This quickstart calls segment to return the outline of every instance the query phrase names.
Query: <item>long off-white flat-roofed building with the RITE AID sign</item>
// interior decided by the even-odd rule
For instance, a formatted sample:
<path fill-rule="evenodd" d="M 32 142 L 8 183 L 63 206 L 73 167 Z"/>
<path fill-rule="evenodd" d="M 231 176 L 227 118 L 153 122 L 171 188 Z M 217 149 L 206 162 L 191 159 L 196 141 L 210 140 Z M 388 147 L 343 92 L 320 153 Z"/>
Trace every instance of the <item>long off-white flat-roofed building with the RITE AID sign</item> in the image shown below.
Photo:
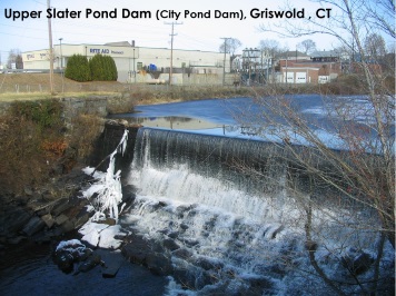
<path fill-rule="evenodd" d="M 53 67 L 66 68 L 72 55 L 82 55 L 90 59 L 101 53 L 115 59 L 120 82 L 168 82 L 171 61 L 172 85 L 221 85 L 224 73 L 230 72 L 229 53 L 174 49 L 171 59 L 170 49 L 135 47 L 133 43 L 133 41 L 132 45 L 127 41 L 106 45 L 59 43 L 53 46 Z M 48 70 L 49 56 L 48 49 L 23 52 L 23 69 Z"/>

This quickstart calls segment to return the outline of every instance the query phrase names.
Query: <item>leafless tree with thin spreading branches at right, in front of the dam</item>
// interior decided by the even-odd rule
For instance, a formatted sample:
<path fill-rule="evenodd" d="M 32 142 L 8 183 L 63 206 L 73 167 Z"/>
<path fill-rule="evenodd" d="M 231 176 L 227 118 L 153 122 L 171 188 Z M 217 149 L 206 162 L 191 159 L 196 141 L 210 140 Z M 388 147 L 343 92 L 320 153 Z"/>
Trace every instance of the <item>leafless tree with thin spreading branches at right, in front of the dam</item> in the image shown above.
<path fill-rule="evenodd" d="M 385 83 L 379 63 L 373 63 L 364 40 L 373 33 L 395 37 L 389 18 L 395 6 L 388 0 L 376 1 L 380 9 L 363 0 L 313 2 L 330 7 L 334 17 L 327 21 L 306 19 L 303 26 L 283 20 L 278 26 L 266 24 L 261 29 L 290 37 L 315 33 L 336 37 L 344 48 L 358 56 L 353 66 L 366 96 L 359 101 L 324 96 L 321 112 L 328 118 L 324 124 L 305 116 L 298 105 L 274 86 L 267 88 L 269 97 L 257 96 L 258 110 L 247 111 L 238 119 L 285 150 L 284 157 L 294 168 L 291 175 L 305 176 L 304 186 L 297 182 L 289 187 L 304 209 L 306 249 L 316 274 L 338 295 L 350 293 L 352 286 L 354 293 L 376 293 L 383 283 L 380 266 L 385 248 L 390 245 L 395 249 L 395 89 Z M 395 69 L 388 75 L 394 78 Z M 336 149 L 324 134 L 337 142 Z M 326 203 L 333 200 L 333 206 L 320 201 L 319 196 Z M 359 217 L 359 213 L 365 213 L 365 217 Z M 343 234 L 350 229 L 348 238 L 354 237 L 355 241 L 339 236 L 335 229 Z M 367 245 L 362 243 L 368 233 L 376 241 L 376 255 L 370 259 L 365 253 Z M 344 279 L 323 268 L 317 255 L 320 246 L 339 258 L 347 273 Z M 363 265 L 370 273 L 363 272 L 355 259 L 345 256 L 346 246 L 360 250 L 359 258 L 367 258 Z"/>

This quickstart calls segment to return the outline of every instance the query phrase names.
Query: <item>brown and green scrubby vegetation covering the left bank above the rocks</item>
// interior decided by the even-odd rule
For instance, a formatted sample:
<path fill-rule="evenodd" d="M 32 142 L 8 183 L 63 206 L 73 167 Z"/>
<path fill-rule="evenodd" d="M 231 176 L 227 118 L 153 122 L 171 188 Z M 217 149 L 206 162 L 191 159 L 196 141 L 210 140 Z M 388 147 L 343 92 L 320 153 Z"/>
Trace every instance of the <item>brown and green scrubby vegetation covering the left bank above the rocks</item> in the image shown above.
<path fill-rule="evenodd" d="M 90 154 L 102 120 L 81 115 L 68 129 L 57 99 L 16 101 L 0 117 L 0 193 L 20 195 L 70 171 Z"/>

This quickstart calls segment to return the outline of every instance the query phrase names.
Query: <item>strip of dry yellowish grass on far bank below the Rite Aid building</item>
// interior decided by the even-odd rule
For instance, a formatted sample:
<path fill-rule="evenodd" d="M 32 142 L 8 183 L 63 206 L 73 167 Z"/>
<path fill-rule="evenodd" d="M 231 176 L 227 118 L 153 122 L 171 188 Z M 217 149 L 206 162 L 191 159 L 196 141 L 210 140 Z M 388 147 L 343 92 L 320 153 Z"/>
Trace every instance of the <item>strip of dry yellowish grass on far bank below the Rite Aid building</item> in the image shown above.
<path fill-rule="evenodd" d="M 55 96 L 50 95 L 49 73 L 0 75 L 0 101 L 37 100 L 61 97 L 120 96 L 130 106 L 160 103 L 202 98 L 224 98 L 251 95 L 250 88 L 221 86 L 128 85 L 118 81 L 77 82 L 53 76 Z M 118 108 L 116 108 L 118 109 Z"/>

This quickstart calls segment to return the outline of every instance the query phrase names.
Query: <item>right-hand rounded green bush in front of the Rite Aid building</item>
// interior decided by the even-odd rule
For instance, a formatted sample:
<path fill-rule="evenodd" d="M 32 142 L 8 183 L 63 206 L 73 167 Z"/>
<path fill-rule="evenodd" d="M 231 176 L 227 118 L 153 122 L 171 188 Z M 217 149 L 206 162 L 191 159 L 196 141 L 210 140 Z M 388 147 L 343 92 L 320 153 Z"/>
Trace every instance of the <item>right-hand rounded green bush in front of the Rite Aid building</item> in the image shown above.
<path fill-rule="evenodd" d="M 118 78 L 115 60 L 109 56 L 96 55 L 89 60 L 92 80 L 116 81 Z"/>

